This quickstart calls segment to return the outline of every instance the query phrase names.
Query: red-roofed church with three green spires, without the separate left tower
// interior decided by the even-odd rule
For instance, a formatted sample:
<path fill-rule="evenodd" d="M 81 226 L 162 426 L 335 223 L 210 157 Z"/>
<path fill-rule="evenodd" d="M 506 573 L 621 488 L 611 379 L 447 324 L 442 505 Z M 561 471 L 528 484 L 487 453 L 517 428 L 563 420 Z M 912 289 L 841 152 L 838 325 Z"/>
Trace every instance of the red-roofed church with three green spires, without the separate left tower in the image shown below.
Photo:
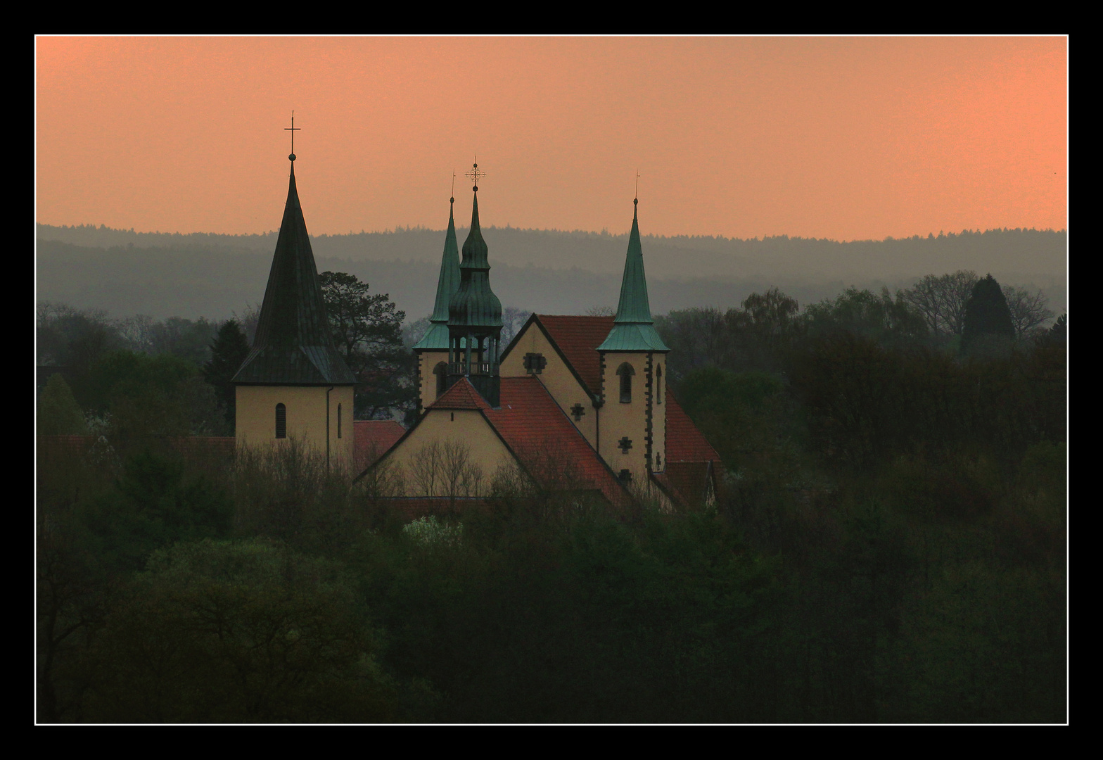
<path fill-rule="evenodd" d="M 502 347 L 502 304 L 479 224 L 482 175 L 478 164 L 467 174 L 462 260 L 449 212 L 430 327 L 414 346 L 417 422 L 365 472 L 398 469 L 407 499 L 454 497 L 454 477 L 418 472 L 452 451 L 483 482 L 503 468 L 539 479 L 550 467 L 614 506 L 641 493 L 667 506 L 711 502 L 719 456 L 666 387 L 670 349 L 651 317 L 635 210 L 615 317 L 533 314 Z"/>

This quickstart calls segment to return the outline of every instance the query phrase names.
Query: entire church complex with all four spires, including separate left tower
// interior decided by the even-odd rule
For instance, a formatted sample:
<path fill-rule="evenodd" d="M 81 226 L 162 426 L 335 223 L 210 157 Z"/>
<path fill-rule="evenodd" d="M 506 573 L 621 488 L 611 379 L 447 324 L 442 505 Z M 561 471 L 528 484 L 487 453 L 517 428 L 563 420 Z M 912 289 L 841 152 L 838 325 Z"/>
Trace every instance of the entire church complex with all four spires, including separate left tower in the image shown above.
<path fill-rule="evenodd" d="M 652 320 L 635 208 L 615 315 L 533 314 L 503 346 L 475 164 L 471 228 L 461 259 L 450 211 L 430 327 L 414 345 L 418 417 L 401 431 L 352 421 L 356 378 L 328 329 L 295 158 L 256 338 L 233 381 L 238 445 L 297 438 L 328 462 L 355 464 L 357 479 L 397 475 L 396 499 L 479 499 L 503 473 L 554 475 L 613 506 L 643 495 L 666 509 L 715 499 L 719 456 L 666 385 L 671 350 Z M 357 461 L 357 433 L 375 427 L 388 431 L 375 437 L 383 446 Z"/>

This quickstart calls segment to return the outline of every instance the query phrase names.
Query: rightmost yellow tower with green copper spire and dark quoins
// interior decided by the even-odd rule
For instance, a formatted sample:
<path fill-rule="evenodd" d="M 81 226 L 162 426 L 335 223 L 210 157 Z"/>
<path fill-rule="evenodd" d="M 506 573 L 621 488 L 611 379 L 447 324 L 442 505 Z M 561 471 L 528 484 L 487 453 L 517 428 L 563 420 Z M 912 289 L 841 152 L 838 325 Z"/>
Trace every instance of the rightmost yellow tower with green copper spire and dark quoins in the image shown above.
<path fill-rule="evenodd" d="M 666 459 L 666 354 L 655 331 L 643 272 L 640 223 L 632 201 L 632 232 L 613 329 L 601 356 L 601 458 L 622 480 L 646 483 Z"/>

